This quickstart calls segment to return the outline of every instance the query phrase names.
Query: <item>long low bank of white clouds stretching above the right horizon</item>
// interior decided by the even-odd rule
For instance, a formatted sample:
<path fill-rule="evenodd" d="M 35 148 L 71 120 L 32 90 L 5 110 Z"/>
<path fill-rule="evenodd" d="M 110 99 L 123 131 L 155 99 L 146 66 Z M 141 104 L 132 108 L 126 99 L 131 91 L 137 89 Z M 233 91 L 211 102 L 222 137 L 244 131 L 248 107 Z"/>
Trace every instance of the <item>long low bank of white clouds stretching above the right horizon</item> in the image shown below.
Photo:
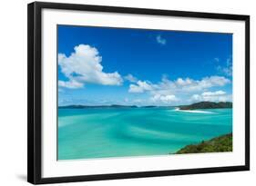
<path fill-rule="evenodd" d="M 176 95 L 188 96 L 193 94 L 190 98 L 191 101 L 225 101 L 230 100 L 230 96 L 225 95 L 223 91 L 207 92 L 211 87 L 225 86 L 230 83 L 230 80 L 223 76 L 210 76 L 204 77 L 200 80 L 193 80 L 190 78 L 178 78 L 177 80 L 169 80 L 164 76 L 159 83 L 151 83 L 149 81 L 138 81 L 129 85 L 129 93 L 149 93 L 150 101 L 154 103 L 171 103 L 178 102 L 179 97 Z"/>

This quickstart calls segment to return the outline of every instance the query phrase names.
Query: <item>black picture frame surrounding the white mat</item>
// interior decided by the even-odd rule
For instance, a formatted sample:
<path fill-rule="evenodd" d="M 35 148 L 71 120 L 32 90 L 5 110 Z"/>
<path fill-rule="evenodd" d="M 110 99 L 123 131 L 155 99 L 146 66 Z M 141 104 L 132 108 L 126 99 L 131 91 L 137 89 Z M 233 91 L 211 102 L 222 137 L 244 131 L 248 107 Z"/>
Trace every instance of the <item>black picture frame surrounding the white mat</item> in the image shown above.
<path fill-rule="evenodd" d="M 210 167 L 170 171 L 139 171 L 97 175 L 42 178 L 42 73 L 41 73 L 41 23 L 42 10 L 62 9 L 93 12 L 125 13 L 137 15 L 165 15 L 209 19 L 239 20 L 245 22 L 245 164 L 240 166 Z M 75 5 L 35 2 L 27 6 L 27 181 L 34 184 L 69 181 L 99 181 L 180 174 L 210 173 L 250 170 L 250 16 L 199 12 L 142 9 L 100 5 Z"/>

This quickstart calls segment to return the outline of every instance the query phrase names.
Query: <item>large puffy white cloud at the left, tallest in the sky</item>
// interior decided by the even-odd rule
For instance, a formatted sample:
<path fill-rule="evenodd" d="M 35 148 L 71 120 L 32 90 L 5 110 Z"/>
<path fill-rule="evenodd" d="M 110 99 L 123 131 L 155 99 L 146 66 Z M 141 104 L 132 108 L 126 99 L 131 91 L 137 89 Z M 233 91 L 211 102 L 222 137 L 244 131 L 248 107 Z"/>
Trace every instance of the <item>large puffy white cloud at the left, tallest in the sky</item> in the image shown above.
<path fill-rule="evenodd" d="M 80 88 L 84 83 L 103 85 L 121 85 L 123 79 L 118 72 L 105 73 L 101 64 L 102 57 L 97 48 L 87 44 L 75 46 L 75 52 L 66 56 L 58 54 L 58 64 L 68 81 L 59 81 L 58 85 L 66 88 Z"/>

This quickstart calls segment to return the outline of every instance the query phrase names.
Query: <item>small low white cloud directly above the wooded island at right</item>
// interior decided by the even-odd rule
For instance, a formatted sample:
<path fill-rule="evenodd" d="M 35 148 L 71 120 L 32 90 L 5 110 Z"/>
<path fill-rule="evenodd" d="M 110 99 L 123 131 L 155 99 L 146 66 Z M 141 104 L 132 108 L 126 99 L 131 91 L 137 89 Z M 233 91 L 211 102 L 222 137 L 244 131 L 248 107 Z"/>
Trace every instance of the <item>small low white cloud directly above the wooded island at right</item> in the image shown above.
<path fill-rule="evenodd" d="M 224 91 L 216 91 L 216 92 L 204 92 L 201 94 L 193 94 L 190 98 L 191 102 L 201 102 L 201 101 L 209 101 L 209 102 L 230 102 L 232 100 L 232 96 L 230 94 L 225 93 Z"/>

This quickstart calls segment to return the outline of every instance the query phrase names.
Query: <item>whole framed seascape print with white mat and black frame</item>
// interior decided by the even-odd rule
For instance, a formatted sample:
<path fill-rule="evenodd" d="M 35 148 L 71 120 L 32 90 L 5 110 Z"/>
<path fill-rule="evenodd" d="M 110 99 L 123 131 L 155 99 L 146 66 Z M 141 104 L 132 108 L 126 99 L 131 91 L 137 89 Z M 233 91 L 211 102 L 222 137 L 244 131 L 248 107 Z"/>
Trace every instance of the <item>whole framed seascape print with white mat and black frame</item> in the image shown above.
<path fill-rule="evenodd" d="M 28 5 L 28 177 L 250 169 L 250 16 Z"/>

